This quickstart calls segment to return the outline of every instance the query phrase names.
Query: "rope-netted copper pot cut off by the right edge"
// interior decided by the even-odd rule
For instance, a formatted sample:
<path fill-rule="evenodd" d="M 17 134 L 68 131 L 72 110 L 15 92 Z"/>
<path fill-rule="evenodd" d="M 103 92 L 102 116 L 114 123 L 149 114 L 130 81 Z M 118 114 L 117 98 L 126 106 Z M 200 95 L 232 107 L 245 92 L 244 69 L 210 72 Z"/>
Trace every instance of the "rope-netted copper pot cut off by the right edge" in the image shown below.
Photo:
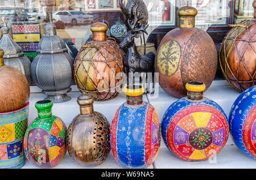
<path fill-rule="evenodd" d="M 235 25 L 222 41 L 220 65 L 225 79 L 237 91 L 256 84 L 256 1 L 254 18 Z"/>

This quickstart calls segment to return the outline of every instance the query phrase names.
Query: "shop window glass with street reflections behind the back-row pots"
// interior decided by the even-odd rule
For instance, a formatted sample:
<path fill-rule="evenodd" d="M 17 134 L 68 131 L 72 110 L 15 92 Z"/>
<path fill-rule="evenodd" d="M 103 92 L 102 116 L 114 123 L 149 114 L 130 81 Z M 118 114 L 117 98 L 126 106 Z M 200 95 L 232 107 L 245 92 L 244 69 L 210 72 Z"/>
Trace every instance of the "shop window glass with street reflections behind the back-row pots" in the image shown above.
<path fill-rule="evenodd" d="M 0 1 L 0 15 L 7 19 L 10 26 L 12 23 L 38 23 L 42 30 L 41 37 L 44 36 L 44 25 L 52 21 L 56 23 L 57 35 L 64 41 L 73 41 L 80 50 L 91 35 L 89 29 L 93 22 L 104 21 L 109 29 L 116 23 L 124 23 L 119 1 L 121 0 L 5 0 Z M 123 6 L 126 6 L 127 1 L 122 0 Z M 252 2 L 253 0 L 144 0 L 149 25 L 146 39 L 155 29 L 177 27 L 177 9 L 182 6 L 197 8 L 196 27 L 207 31 L 210 27 L 228 27 L 228 24 L 252 18 Z M 15 9 L 18 16 L 14 15 Z M 222 31 L 221 28 L 219 30 Z M 109 32 L 108 35 L 110 36 Z"/>

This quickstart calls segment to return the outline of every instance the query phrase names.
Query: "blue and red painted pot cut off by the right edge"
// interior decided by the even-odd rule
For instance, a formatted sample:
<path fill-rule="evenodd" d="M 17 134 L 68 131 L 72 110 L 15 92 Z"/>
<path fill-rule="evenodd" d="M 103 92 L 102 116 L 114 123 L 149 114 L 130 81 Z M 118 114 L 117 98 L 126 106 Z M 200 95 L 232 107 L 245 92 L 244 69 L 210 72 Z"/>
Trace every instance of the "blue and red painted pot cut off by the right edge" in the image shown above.
<path fill-rule="evenodd" d="M 256 159 L 256 85 L 237 97 L 230 110 L 229 128 L 237 147 Z"/>

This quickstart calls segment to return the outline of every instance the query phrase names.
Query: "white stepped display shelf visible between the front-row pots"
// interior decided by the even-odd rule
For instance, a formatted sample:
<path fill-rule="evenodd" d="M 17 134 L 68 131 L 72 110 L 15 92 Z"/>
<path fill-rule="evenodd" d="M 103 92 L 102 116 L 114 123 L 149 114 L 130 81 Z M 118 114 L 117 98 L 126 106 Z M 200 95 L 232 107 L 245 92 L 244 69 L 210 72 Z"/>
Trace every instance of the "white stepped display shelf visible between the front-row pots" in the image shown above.
<path fill-rule="evenodd" d="M 166 109 L 178 98 L 168 95 L 166 92 L 160 88 L 159 84 L 156 84 L 154 96 L 143 96 L 144 101 L 149 101 L 159 114 L 159 118 L 162 119 Z M 77 97 L 80 95 L 76 85 L 72 85 L 72 91 L 68 94 L 72 97 L 71 101 L 53 104 L 52 114 L 59 116 L 63 119 L 63 122 L 68 127 L 72 119 L 79 114 L 79 105 L 77 104 Z M 231 87 L 225 80 L 214 80 L 209 89 L 204 93 L 205 97 L 212 99 L 217 102 L 226 115 L 229 115 L 229 111 L 233 102 L 240 95 L 240 92 L 236 91 Z M 37 117 L 37 110 L 35 109 L 35 102 L 43 100 L 46 96 L 43 95 L 40 89 L 36 86 L 31 86 L 31 96 L 30 96 L 30 111 L 28 115 L 28 123 L 30 124 Z M 125 93 L 121 93 L 118 97 L 113 100 L 105 102 L 95 102 L 94 110 L 105 115 L 109 120 L 110 124 L 112 118 L 114 117 L 115 110 L 118 109 L 126 100 Z M 36 166 L 30 164 L 26 160 L 23 168 L 37 168 Z M 64 159 L 55 168 L 88 168 L 76 164 L 67 154 Z M 110 152 L 107 160 L 99 166 L 90 167 L 98 169 L 119 169 L 122 168 L 115 162 L 112 152 Z M 174 168 L 174 169 L 187 169 L 187 168 L 256 168 L 255 160 L 250 157 L 243 155 L 243 153 L 234 145 L 232 137 L 229 135 L 228 141 L 222 151 L 218 153 L 215 157 L 210 158 L 207 161 L 198 162 L 187 162 L 180 160 L 168 151 L 163 140 L 161 140 L 161 145 L 159 149 L 158 156 L 154 164 L 148 167 L 151 168 Z"/>

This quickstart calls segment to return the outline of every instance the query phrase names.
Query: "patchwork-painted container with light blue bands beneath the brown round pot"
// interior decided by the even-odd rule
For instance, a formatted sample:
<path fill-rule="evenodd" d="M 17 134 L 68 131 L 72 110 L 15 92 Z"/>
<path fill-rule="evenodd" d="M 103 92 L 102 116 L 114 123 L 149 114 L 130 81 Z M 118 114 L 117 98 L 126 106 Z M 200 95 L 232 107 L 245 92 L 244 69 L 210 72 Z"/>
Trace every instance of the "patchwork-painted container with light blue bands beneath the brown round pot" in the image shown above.
<path fill-rule="evenodd" d="M 23 138 L 27 129 L 28 105 L 0 113 L 0 168 L 21 168 L 25 162 Z"/>

